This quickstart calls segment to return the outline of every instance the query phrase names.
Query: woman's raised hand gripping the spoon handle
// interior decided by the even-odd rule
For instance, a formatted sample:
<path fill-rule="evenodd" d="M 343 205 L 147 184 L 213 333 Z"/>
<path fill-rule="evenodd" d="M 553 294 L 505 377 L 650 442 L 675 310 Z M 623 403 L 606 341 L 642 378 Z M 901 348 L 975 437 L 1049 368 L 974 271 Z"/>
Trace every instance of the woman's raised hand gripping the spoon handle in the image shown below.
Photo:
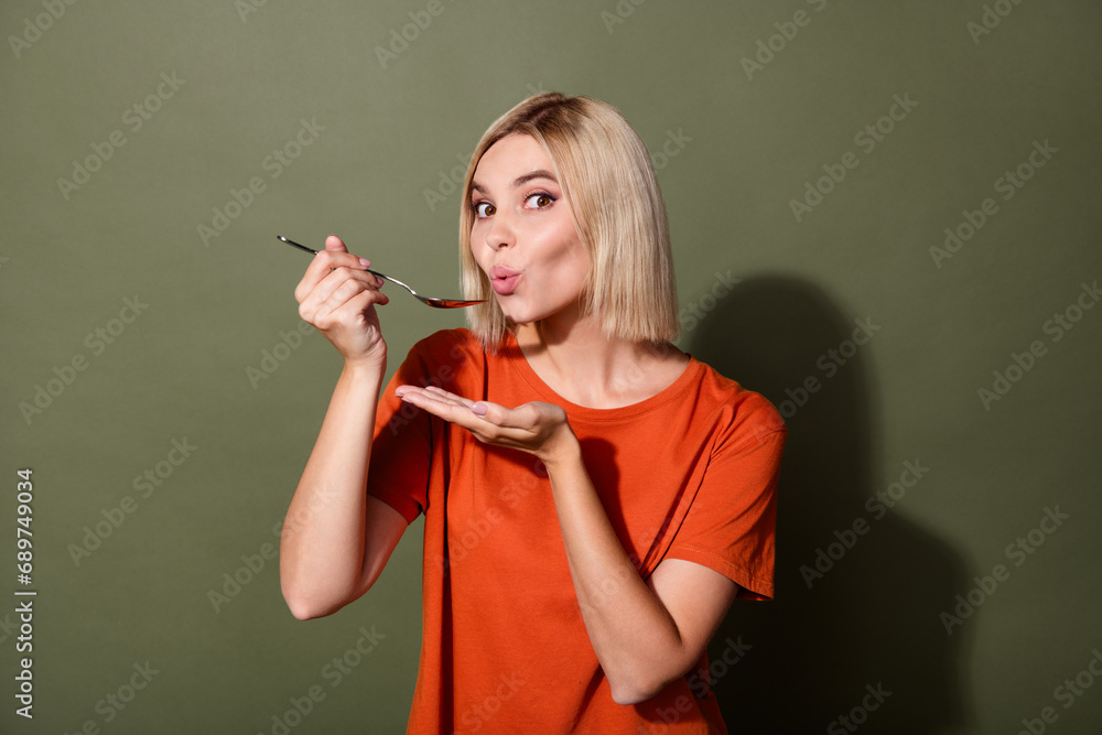
<path fill-rule="evenodd" d="M 387 343 L 375 305 L 390 300 L 379 291 L 382 280 L 367 272 L 370 264 L 329 235 L 325 250 L 314 256 L 299 281 L 294 299 L 299 315 L 333 343 L 345 364 L 378 369 L 386 366 Z"/>

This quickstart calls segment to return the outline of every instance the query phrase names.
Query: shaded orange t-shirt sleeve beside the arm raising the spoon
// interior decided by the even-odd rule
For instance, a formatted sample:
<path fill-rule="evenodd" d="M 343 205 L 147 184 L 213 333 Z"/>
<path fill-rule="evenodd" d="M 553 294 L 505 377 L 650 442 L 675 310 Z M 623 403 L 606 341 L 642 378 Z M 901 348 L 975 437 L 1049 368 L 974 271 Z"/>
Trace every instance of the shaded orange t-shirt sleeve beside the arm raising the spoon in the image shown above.
<path fill-rule="evenodd" d="M 434 359 L 435 338 L 419 342 L 379 397 L 375 417 L 367 493 L 400 512 L 412 523 L 428 507 L 432 465 L 432 417 L 395 396 L 398 386 L 428 385 L 440 372 Z"/>

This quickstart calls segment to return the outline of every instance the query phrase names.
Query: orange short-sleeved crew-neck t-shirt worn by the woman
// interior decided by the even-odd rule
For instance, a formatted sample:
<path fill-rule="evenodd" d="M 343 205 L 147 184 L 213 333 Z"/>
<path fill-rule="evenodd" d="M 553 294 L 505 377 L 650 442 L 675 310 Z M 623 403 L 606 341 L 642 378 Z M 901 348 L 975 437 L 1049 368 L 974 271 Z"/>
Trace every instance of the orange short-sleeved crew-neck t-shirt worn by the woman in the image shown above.
<path fill-rule="evenodd" d="M 616 704 L 582 620 L 547 473 L 403 403 L 437 385 L 515 408 L 561 406 L 628 556 L 646 579 L 663 559 L 703 564 L 773 596 L 777 410 L 691 359 L 633 406 L 555 394 L 515 338 L 495 355 L 466 329 L 419 342 L 380 399 L 368 493 L 412 522 L 424 514 L 420 670 L 409 733 L 724 733 L 711 692 L 679 679 Z M 707 682 L 704 657 L 698 679 Z"/>

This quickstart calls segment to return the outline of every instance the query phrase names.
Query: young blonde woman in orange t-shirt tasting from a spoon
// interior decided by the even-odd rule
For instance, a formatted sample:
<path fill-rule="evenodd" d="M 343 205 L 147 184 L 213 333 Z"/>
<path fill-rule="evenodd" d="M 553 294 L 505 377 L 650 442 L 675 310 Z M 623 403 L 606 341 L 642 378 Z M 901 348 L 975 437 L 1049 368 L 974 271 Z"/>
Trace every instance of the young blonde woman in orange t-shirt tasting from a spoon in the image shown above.
<path fill-rule="evenodd" d="M 331 236 L 295 290 L 344 370 L 288 510 L 295 617 L 367 592 L 424 514 L 411 733 L 724 733 L 705 647 L 773 595 L 784 423 L 670 344 L 666 212 L 606 104 L 542 94 L 464 184 L 469 329 L 383 390 L 381 283 Z"/>

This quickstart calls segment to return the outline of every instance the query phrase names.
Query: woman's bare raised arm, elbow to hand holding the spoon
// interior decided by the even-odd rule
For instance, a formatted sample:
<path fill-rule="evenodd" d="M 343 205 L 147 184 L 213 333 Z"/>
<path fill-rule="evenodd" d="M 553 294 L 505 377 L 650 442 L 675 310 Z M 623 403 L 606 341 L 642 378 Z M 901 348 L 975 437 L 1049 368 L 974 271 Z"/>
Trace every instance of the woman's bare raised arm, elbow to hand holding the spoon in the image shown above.
<path fill-rule="evenodd" d="M 280 537 L 280 584 L 299 619 L 329 615 L 382 572 L 406 519 L 369 498 L 367 468 L 387 367 L 376 304 L 386 304 L 368 261 L 329 236 L 295 289 L 299 314 L 345 358 L 314 451 Z"/>

